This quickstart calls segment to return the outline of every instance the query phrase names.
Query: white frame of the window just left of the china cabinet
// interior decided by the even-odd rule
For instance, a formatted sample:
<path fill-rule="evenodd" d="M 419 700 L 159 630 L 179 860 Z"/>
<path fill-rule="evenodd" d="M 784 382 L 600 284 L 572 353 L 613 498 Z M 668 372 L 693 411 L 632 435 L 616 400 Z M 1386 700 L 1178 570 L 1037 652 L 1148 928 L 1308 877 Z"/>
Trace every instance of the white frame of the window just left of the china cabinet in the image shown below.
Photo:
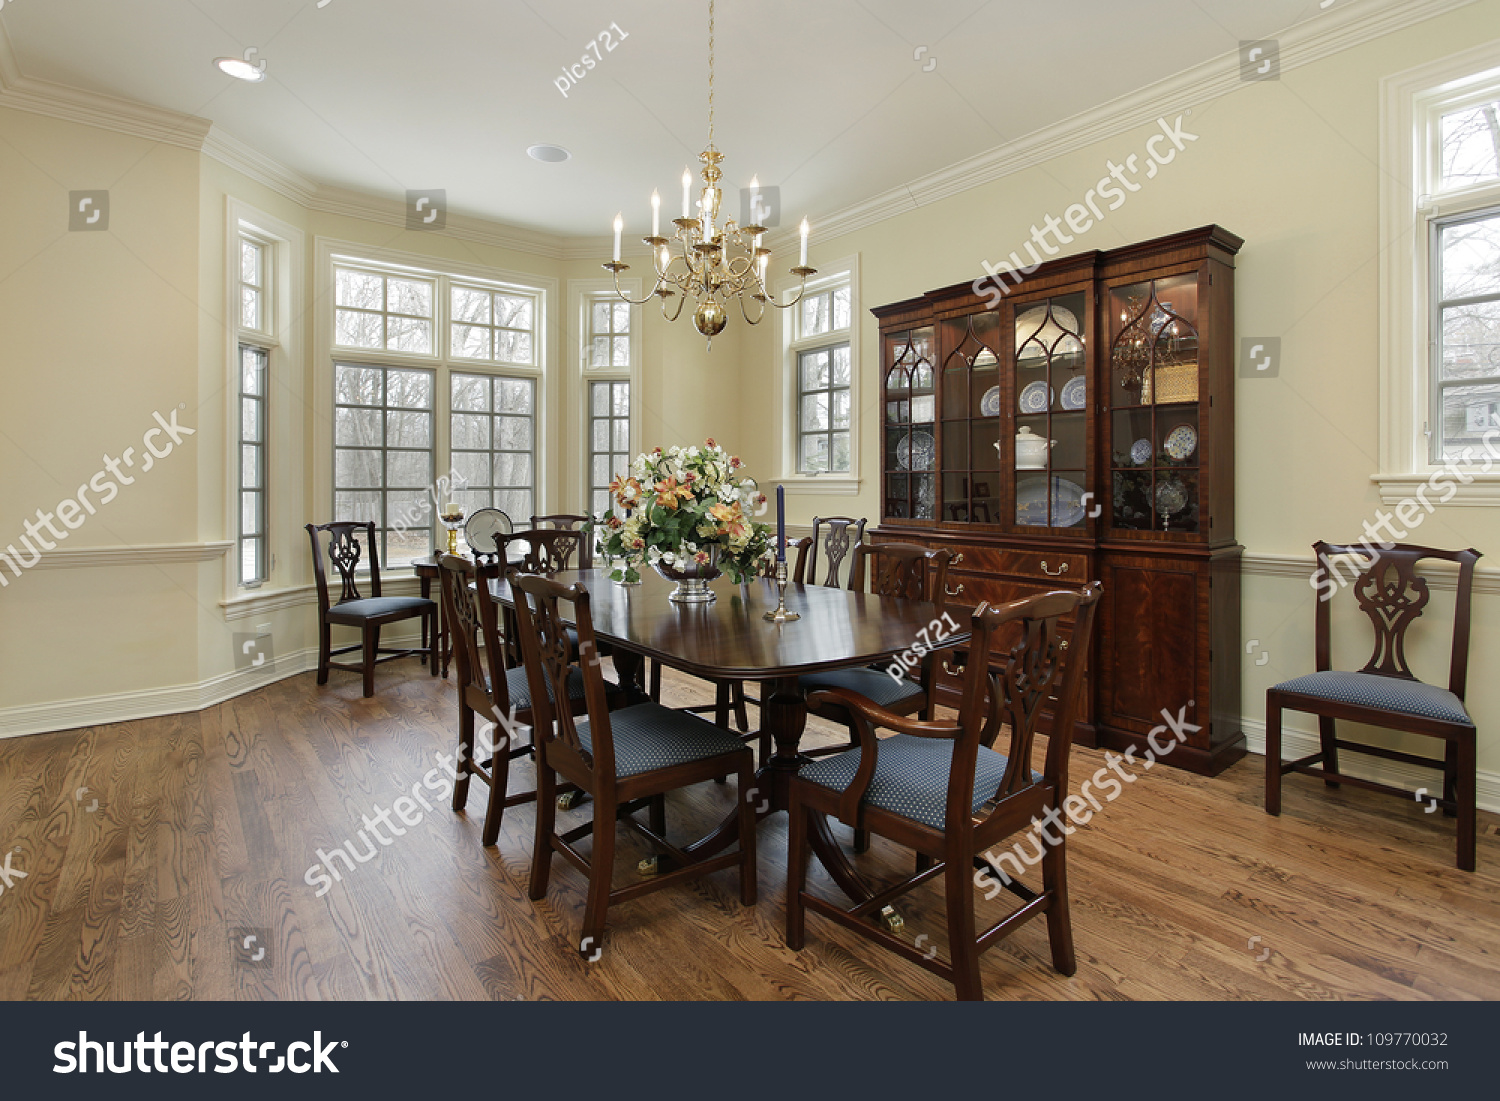
<path fill-rule="evenodd" d="M 842 330 L 819 333 L 806 339 L 798 339 L 798 318 L 801 302 L 790 309 L 777 309 L 777 354 L 780 356 L 782 393 L 778 396 L 782 408 L 782 476 L 777 478 L 788 494 L 816 494 L 822 496 L 858 496 L 860 494 L 860 452 L 861 438 L 861 386 L 862 374 L 860 362 L 860 334 L 864 327 L 864 310 L 860 303 L 860 254 L 843 256 L 828 264 L 807 282 L 807 294 L 818 294 L 838 286 L 849 286 L 849 470 L 838 474 L 800 474 L 798 423 L 798 354 L 810 348 L 820 348 L 830 344 L 842 344 Z M 776 284 L 777 302 L 786 302 L 796 292 L 798 280 L 786 276 Z"/>

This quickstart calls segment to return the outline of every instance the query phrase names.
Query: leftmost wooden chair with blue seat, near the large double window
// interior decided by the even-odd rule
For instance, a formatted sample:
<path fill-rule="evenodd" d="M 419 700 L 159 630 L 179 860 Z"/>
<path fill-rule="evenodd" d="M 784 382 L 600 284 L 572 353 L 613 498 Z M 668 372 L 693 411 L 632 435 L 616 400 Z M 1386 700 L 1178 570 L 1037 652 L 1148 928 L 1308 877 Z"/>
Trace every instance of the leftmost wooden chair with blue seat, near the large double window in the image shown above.
<path fill-rule="evenodd" d="M 374 520 L 334 520 L 333 524 L 309 524 L 308 538 L 312 542 L 312 574 L 318 584 L 318 684 L 328 682 L 330 669 L 346 669 L 364 674 L 364 698 L 375 694 L 375 666 L 400 657 L 420 656 L 438 675 L 438 603 L 428 597 L 387 597 L 380 588 L 380 543 Z M 327 537 L 327 549 L 324 549 Z M 363 542 L 362 542 L 363 537 Z M 339 572 L 342 590 L 334 602 L 328 596 L 328 574 L 322 560 L 333 562 Z M 358 586 L 360 560 L 369 561 L 370 596 L 362 596 Z M 408 650 L 382 650 L 380 633 L 382 627 L 402 620 L 422 620 L 422 645 Z M 360 640 L 348 646 L 333 648 L 334 627 L 356 627 Z M 360 651 L 360 663 L 334 662 L 340 654 Z"/>

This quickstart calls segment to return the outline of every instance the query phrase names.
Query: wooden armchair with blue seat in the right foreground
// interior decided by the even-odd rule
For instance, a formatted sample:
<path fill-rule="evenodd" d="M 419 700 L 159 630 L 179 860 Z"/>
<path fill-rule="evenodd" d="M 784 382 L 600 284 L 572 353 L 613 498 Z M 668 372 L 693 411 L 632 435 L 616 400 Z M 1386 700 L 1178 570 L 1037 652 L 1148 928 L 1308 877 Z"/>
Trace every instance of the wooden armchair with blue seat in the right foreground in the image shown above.
<path fill-rule="evenodd" d="M 1042 592 L 999 608 L 980 604 L 970 620 L 974 634 L 956 723 L 898 716 L 848 688 L 814 693 L 812 702 L 837 702 L 850 716 L 860 747 L 813 760 L 792 778 L 786 885 L 789 948 L 802 948 L 806 910 L 810 909 L 950 980 L 960 999 L 981 1000 L 980 956 L 1030 918 L 1046 914 L 1053 966 L 1064 975 L 1077 970 L 1068 914 L 1066 830 L 1059 830 L 1056 837 L 1046 836 L 1046 846 L 1041 837 L 1036 838 L 1041 891 L 1004 872 L 992 880 L 994 894 L 999 888 L 1008 890 L 1022 906 L 982 933 L 975 932 L 974 894 L 976 868 L 990 867 L 984 854 L 1014 834 L 1032 832 L 1038 820 L 1056 820 L 1068 796 L 1072 718 L 1101 591 L 1100 582 L 1094 582 L 1080 591 Z M 1074 616 L 1071 632 L 1064 626 L 1070 615 Z M 1022 640 L 992 656 L 996 632 L 1010 624 L 1020 624 Z M 992 662 L 998 664 L 998 658 L 1004 658 L 1004 668 L 996 672 Z M 1032 747 L 1048 711 L 1046 760 L 1042 771 L 1035 772 Z M 1010 729 L 1004 756 L 994 750 L 1002 724 Z M 874 728 L 896 734 L 876 738 Z M 808 892 L 808 831 L 820 828 L 828 814 L 915 849 L 916 872 L 852 909 Z M 1020 861 L 1012 862 L 1018 870 Z M 872 921 L 892 900 L 939 876 L 946 897 L 948 960 Z"/>

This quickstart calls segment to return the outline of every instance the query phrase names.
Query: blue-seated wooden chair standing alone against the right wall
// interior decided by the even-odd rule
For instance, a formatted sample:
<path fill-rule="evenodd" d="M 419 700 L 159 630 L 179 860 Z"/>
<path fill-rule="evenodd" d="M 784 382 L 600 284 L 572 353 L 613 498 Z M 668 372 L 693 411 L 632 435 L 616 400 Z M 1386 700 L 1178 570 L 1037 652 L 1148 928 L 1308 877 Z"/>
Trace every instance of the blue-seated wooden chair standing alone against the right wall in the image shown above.
<path fill-rule="evenodd" d="M 1338 752 L 1364 753 L 1384 760 L 1437 768 L 1443 772 L 1443 796 L 1430 798 L 1444 816 L 1458 818 L 1458 867 L 1474 870 L 1474 832 L 1478 802 L 1478 734 L 1464 706 L 1468 681 L 1468 626 L 1474 588 L 1478 550 L 1437 550 L 1430 546 L 1396 543 L 1389 549 L 1365 544 L 1336 546 L 1317 542 L 1320 598 L 1314 610 L 1314 664 L 1317 672 L 1282 681 L 1266 692 L 1266 813 L 1281 813 L 1281 777 L 1287 772 L 1318 776 L 1329 788 L 1342 783 L 1354 788 L 1413 800 L 1414 795 L 1340 771 Z M 1374 626 L 1376 648 L 1359 672 L 1334 669 L 1330 603 L 1344 582 L 1335 558 L 1364 561 L 1352 567 L 1354 600 Z M 1454 604 L 1454 640 L 1449 650 L 1448 687 L 1418 680 L 1406 657 L 1406 634 L 1426 609 L 1428 582 L 1416 567 L 1424 560 L 1458 566 L 1458 596 Z M 1281 760 L 1281 711 L 1305 711 L 1318 717 L 1318 752 L 1298 760 Z M 1346 718 L 1443 741 L 1442 758 L 1389 750 L 1382 746 L 1347 741 L 1338 736 L 1336 722 Z"/>

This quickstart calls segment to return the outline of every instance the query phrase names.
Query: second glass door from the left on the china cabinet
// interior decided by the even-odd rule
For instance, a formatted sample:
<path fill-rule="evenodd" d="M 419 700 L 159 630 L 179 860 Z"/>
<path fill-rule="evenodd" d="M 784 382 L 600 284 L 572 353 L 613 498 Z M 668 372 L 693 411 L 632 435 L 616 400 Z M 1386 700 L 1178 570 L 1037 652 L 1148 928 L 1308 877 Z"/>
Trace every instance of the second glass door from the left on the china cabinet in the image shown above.
<path fill-rule="evenodd" d="M 942 519 L 1000 522 L 1000 316 L 942 322 Z"/>

